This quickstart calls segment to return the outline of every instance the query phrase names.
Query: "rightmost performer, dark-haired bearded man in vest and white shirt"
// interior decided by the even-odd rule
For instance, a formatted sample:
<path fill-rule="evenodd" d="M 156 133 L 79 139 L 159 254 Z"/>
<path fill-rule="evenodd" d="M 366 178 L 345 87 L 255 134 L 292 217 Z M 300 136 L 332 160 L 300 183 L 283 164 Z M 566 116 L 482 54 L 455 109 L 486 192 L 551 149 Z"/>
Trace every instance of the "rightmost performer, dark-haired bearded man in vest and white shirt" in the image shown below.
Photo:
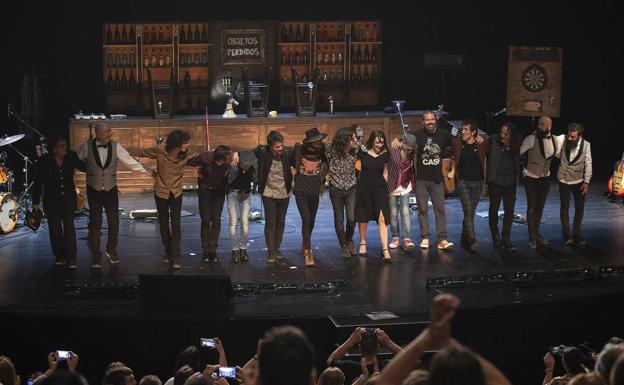
<path fill-rule="evenodd" d="M 561 230 L 566 245 L 584 245 L 581 237 L 581 222 L 585 208 L 585 196 L 589 190 L 592 176 L 591 146 L 583 138 L 584 128 L 579 123 L 568 126 L 567 135 L 560 135 L 557 141 L 561 150 L 557 157 L 561 158 L 557 180 L 559 180 L 559 199 L 561 200 Z M 570 194 L 574 196 L 574 224 L 570 238 Z"/>

